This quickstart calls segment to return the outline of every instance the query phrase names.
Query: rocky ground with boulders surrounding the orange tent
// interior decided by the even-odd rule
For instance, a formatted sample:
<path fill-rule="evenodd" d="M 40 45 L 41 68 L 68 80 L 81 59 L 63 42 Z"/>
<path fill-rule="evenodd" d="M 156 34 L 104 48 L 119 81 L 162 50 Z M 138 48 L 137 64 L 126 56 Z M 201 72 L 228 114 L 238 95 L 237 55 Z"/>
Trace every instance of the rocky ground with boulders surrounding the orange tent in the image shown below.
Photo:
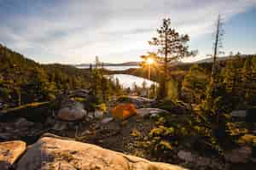
<path fill-rule="evenodd" d="M 76 101 L 78 97 L 86 102 Z M 135 96 L 109 102 L 107 111 L 92 110 L 88 104 L 91 100 L 93 97 L 86 90 L 78 90 L 61 95 L 55 102 L 47 104 L 48 110 L 41 111 L 39 116 L 37 111 L 22 114 L 0 111 L 0 164 L 3 163 L 5 169 L 29 170 L 183 169 L 123 155 L 157 161 L 142 147 L 142 142 L 147 141 L 148 133 L 155 126 L 154 117 L 160 113 L 170 114 L 169 111 L 154 108 L 156 103 L 152 99 Z M 137 114 L 125 120 L 114 118 L 111 109 L 124 102 L 135 105 Z M 186 109 L 175 107 L 173 111 L 180 114 Z M 40 154 L 39 150 L 43 152 Z M 239 166 L 247 166 L 248 160 L 253 161 L 251 155 L 252 149 L 241 147 L 227 152 L 223 161 L 218 157 L 199 156 L 191 150 L 179 148 L 168 162 L 193 169 L 240 169 Z M 124 167 L 119 167 L 120 162 Z"/>

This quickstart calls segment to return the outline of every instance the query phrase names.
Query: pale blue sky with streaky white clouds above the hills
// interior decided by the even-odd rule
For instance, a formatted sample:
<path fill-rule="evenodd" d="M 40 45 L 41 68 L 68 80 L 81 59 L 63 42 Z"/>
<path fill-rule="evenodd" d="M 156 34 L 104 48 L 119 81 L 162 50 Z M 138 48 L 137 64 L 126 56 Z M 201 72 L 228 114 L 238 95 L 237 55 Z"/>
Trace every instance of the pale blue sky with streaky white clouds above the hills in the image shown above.
<path fill-rule="evenodd" d="M 212 54 L 218 14 L 222 51 L 256 54 L 256 0 L 0 0 L 0 43 L 40 63 L 136 61 L 168 17 L 193 61 Z"/>

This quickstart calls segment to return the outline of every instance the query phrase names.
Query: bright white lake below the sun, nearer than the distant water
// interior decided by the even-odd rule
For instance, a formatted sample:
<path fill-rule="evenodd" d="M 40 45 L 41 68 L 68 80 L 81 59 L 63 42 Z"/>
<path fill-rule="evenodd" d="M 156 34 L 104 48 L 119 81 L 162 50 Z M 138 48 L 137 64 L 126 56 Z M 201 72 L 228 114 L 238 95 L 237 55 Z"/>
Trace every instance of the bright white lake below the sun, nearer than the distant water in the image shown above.
<path fill-rule="evenodd" d="M 143 82 L 146 82 L 146 87 L 149 88 L 155 82 L 145 79 L 143 77 L 136 77 L 127 74 L 113 74 L 111 75 L 113 80 L 116 78 L 119 79 L 119 83 L 123 86 L 123 88 L 133 88 L 134 82 L 136 83 L 137 87 L 143 87 Z"/>

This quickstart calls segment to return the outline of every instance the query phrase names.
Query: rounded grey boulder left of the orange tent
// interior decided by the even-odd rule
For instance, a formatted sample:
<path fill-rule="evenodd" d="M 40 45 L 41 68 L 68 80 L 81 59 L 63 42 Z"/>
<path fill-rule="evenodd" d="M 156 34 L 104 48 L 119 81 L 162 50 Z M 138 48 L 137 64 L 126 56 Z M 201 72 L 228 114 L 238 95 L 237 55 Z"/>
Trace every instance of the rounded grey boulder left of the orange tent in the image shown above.
<path fill-rule="evenodd" d="M 78 121 L 86 115 L 87 112 L 84 111 L 84 106 L 75 101 L 67 106 L 62 106 L 62 109 L 58 111 L 57 114 L 57 116 L 63 121 Z"/>

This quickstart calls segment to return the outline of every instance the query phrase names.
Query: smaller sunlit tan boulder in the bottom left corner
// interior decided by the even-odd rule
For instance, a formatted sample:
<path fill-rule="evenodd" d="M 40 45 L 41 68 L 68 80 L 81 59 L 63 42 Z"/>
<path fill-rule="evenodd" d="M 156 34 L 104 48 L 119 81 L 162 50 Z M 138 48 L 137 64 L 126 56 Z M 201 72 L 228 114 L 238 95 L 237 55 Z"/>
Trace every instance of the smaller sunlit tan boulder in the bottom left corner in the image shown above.
<path fill-rule="evenodd" d="M 0 143 L 0 167 L 9 169 L 26 150 L 26 143 L 20 140 Z"/>

